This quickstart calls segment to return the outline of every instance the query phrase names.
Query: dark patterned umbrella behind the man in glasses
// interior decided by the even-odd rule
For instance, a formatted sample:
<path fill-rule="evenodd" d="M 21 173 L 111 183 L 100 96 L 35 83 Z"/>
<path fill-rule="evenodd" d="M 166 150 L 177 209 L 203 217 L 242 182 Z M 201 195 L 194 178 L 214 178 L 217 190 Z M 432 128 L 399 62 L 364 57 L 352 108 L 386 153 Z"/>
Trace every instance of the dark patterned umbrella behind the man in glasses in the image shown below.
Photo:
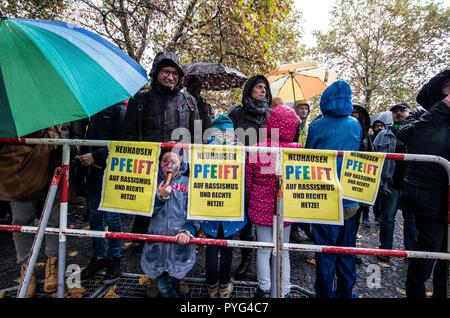
<path fill-rule="evenodd" d="M 185 80 L 197 79 L 202 89 L 222 91 L 241 87 L 247 76 L 219 63 L 196 62 L 184 66 Z"/>

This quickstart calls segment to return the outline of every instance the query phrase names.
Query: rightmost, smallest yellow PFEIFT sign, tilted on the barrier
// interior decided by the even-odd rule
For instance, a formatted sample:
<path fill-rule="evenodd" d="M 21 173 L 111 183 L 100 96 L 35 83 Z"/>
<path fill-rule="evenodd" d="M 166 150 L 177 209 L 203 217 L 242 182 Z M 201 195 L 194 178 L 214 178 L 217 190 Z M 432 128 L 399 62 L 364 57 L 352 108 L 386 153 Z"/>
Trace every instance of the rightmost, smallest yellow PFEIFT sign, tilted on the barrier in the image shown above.
<path fill-rule="evenodd" d="M 341 172 L 343 197 L 375 204 L 383 164 L 383 154 L 345 152 Z"/>

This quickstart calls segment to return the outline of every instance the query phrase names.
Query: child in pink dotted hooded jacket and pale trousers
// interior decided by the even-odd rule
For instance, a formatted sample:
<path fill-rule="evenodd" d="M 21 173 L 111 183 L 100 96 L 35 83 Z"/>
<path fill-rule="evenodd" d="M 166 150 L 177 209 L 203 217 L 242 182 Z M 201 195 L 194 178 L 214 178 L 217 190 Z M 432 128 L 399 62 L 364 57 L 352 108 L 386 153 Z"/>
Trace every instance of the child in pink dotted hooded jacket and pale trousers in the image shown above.
<path fill-rule="evenodd" d="M 267 139 L 256 144 L 259 147 L 301 148 L 298 140 L 298 128 L 301 123 L 295 111 L 279 105 L 272 109 L 267 118 L 265 128 Z M 260 242 L 272 242 L 273 216 L 276 214 L 276 154 L 250 153 L 246 164 L 246 195 L 248 200 L 248 216 L 256 225 L 256 237 Z M 284 242 L 289 242 L 290 225 L 284 224 Z M 258 290 L 256 297 L 269 297 L 271 289 L 270 249 L 258 249 L 256 253 L 256 274 Z M 284 294 L 289 297 L 290 264 L 289 252 L 284 251 Z"/>

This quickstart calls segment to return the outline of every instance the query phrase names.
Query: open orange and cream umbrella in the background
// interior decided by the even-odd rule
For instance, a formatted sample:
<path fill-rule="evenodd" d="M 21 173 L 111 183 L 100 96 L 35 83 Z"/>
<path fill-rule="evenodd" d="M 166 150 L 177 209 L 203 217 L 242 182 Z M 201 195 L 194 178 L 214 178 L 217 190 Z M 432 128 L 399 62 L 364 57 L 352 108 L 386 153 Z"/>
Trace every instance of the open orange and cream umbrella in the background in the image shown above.
<path fill-rule="evenodd" d="M 336 73 L 315 63 L 282 64 L 266 75 L 272 96 L 286 104 L 321 94 L 337 79 Z"/>

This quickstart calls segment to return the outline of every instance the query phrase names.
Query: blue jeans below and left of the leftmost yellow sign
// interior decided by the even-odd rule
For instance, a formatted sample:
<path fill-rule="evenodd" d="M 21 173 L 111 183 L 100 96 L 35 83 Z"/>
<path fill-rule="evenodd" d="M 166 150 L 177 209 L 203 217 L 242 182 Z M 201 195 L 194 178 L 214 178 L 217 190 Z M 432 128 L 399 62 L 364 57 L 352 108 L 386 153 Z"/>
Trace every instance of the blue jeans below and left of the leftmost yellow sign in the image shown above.
<path fill-rule="evenodd" d="M 110 232 L 121 232 L 122 222 L 119 213 L 99 211 L 101 191 L 89 190 L 86 192 L 89 225 L 93 231 L 104 231 L 105 225 Z M 105 248 L 105 239 L 93 238 L 92 249 L 95 257 L 120 257 L 121 240 L 108 240 L 108 250 Z"/>

